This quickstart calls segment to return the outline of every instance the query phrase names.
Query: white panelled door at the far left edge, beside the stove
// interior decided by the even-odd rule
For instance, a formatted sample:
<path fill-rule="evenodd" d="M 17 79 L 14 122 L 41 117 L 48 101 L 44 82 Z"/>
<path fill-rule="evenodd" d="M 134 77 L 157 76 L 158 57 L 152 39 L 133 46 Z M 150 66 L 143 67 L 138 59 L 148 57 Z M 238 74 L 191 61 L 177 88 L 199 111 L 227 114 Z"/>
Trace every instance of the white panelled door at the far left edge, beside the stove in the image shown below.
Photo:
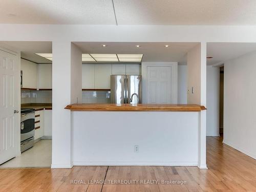
<path fill-rule="evenodd" d="M 16 156 L 20 123 L 17 55 L 0 50 L 0 164 Z"/>

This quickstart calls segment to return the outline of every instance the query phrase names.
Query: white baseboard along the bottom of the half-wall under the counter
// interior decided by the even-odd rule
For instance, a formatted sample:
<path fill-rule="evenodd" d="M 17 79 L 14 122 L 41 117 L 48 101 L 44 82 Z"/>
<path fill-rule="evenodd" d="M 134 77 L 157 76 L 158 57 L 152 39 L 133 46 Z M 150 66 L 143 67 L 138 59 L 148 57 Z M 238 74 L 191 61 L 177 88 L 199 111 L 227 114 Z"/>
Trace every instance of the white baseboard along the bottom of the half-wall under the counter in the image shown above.
<path fill-rule="evenodd" d="M 198 162 L 74 161 L 74 166 L 197 166 Z"/>

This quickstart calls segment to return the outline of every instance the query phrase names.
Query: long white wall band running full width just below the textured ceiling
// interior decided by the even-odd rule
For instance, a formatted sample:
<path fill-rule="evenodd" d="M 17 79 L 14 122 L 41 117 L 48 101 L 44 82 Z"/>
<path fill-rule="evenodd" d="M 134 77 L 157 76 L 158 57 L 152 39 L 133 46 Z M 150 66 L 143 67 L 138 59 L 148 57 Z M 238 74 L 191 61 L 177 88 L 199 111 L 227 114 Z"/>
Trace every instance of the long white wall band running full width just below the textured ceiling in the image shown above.
<path fill-rule="evenodd" d="M 0 24 L 1 41 L 256 42 L 254 34 L 256 26 Z"/>

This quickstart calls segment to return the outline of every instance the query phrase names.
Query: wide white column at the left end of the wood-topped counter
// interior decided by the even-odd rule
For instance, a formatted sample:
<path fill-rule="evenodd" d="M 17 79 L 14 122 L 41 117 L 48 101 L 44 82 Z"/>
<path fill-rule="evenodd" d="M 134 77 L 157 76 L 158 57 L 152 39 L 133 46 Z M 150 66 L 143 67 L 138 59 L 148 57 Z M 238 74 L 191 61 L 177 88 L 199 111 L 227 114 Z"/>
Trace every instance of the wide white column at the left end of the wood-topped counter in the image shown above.
<path fill-rule="evenodd" d="M 70 41 L 53 41 L 52 168 L 71 168 L 72 127 L 68 104 L 81 101 L 81 51 Z M 79 56 L 80 55 L 80 56 Z M 80 58 L 80 60 L 79 60 Z M 78 62 L 80 65 L 78 65 Z M 80 67 L 80 68 L 79 68 Z"/>

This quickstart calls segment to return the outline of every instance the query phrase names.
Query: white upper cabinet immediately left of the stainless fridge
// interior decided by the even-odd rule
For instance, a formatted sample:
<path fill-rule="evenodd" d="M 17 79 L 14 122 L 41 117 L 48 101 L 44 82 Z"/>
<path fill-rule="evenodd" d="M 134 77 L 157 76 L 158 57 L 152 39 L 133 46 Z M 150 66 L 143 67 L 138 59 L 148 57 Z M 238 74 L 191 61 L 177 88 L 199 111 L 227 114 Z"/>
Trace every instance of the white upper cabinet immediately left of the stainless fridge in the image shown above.
<path fill-rule="evenodd" d="M 95 66 L 95 89 L 110 89 L 110 76 L 112 75 L 111 64 L 96 64 Z"/>

